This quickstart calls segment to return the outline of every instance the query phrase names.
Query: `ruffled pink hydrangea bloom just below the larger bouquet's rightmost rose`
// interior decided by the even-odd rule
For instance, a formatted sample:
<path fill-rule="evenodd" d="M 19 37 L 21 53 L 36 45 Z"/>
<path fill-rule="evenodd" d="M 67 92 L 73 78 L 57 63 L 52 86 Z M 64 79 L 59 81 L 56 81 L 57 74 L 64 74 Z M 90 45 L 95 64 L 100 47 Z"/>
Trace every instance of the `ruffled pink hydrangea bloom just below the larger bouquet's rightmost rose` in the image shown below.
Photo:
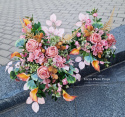
<path fill-rule="evenodd" d="M 65 65 L 64 63 L 66 62 L 65 58 L 62 58 L 59 55 L 56 55 L 55 58 L 53 58 L 54 65 L 56 65 L 59 68 L 63 68 Z"/>

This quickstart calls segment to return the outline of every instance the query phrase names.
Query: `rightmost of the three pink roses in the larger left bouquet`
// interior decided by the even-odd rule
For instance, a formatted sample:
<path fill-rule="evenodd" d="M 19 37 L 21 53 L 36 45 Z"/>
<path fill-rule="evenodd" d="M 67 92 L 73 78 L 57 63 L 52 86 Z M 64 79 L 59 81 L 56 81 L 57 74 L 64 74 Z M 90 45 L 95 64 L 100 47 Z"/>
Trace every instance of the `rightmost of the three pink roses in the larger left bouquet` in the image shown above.
<path fill-rule="evenodd" d="M 46 49 L 46 56 L 55 57 L 56 55 L 58 55 L 58 49 L 56 46 L 51 46 Z"/>

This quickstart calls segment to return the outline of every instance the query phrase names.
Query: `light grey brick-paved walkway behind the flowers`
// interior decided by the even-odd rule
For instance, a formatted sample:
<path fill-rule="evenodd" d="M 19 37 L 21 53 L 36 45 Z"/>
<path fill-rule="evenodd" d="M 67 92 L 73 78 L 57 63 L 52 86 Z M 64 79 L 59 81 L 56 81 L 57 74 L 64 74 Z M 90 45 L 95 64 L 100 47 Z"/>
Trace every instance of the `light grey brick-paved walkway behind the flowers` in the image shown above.
<path fill-rule="evenodd" d="M 14 43 L 21 35 L 19 18 L 34 14 L 35 21 L 45 25 L 52 13 L 63 21 L 66 33 L 75 28 L 80 12 L 99 9 L 99 17 L 106 22 L 115 6 L 112 28 L 125 24 L 125 0 L 0 0 L 0 65 L 5 65 L 10 54 L 17 50 Z"/>

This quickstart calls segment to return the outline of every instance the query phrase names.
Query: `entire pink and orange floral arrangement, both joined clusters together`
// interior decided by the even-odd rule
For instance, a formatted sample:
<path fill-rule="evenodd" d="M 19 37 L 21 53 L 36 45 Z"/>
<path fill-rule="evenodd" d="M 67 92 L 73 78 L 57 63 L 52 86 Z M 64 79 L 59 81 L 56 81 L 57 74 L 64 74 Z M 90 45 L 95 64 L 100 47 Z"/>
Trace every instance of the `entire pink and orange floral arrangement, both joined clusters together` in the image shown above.
<path fill-rule="evenodd" d="M 49 28 L 41 27 L 40 22 L 34 23 L 33 16 L 21 21 L 23 35 L 15 46 L 22 51 L 11 54 L 17 62 L 9 62 L 6 70 L 11 79 L 26 82 L 24 90 L 31 90 L 26 103 L 32 103 L 34 112 L 38 112 L 39 104 L 45 103 L 46 93 L 55 100 L 61 95 L 66 101 L 76 98 L 65 91 L 70 84 L 81 79 L 79 69 L 74 68 L 69 55 L 83 57 L 84 62 L 80 56 L 75 59 L 80 69 L 92 63 L 97 71 L 100 71 L 99 63 L 108 66 L 107 58 L 114 55 L 116 40 L 103 29 L 101 18 L 97 18 L 97 9 L 87 13 L 94 17 L 94 23 L 88 15 L 80 13 L 80 21 L 76 23 L 79 28 L 65 36 L 64 29 L 59 28 L 62 21 L 57 20 L 55 14 L 46 21 Z"/>

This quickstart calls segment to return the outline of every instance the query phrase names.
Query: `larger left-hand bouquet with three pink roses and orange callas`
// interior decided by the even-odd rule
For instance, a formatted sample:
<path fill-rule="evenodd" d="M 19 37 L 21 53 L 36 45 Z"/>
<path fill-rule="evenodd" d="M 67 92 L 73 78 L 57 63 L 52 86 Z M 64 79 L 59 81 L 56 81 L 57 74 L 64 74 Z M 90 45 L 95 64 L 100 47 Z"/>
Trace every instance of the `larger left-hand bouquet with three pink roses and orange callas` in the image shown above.
<path fill-rule="evenodd" d="M 14 52 L 11 58 L 18 62 L 13 65 L 9 62 L 6 70 L 10 78 L 16 81 L 25 81 L 24 90 L 30 89 L 30 97 L 26 103 L 32 103 L 34 112 L 39 110 L 38 104 L 44 104 L 46 93 L 57 98 L 63 95 L 66 101 L 72 101 L 76 96 L 70 96 L 66 93 L 69 85 L 76 82 L 79 76 L 73 67 L 73 61 L 70 59 L 70 42 L 62 40 L 64 29 L 58 29 L 61 21 L 56 21 L 56 15 L 50 16 L 46 21 L 49 28 L 43 26 L 40 22 L 34 23 L 33 17 L 23 19 L 23 35 L 16 41 L 15 46 L 22 52 Z M 13 67 L 14 66 L 14 67 Z"/>

